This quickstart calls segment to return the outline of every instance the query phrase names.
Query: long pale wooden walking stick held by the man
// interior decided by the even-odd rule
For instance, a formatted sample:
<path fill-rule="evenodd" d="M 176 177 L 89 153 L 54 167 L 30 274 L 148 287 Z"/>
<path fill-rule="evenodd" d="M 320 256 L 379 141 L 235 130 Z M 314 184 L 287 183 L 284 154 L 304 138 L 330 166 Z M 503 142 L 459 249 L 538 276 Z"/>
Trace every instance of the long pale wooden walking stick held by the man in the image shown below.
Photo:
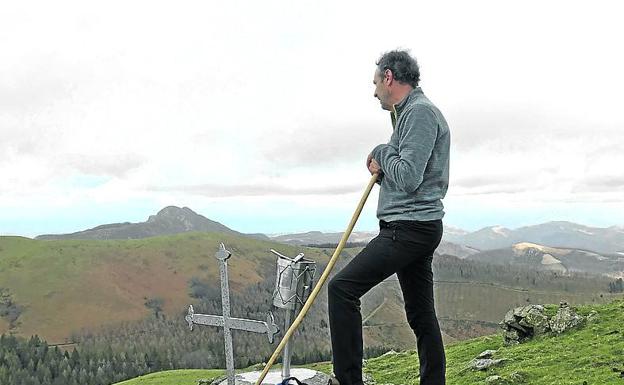
<path fill-rule="evenodd" d="M 334 255 L 332 255 L 332 257 L 329 259 L 329 263 L 327 264 L 327 267 L 325 268 L 325 270 L 323 271 L 323 274 L 319 278 L 319 281 L 316 283 L 316 286 L 314 286 L 314 290 L 312 290 L 312 293 L 310 293 L 308 300 L 301 308 L 299 315 L 297 316 L 297 318 L 295 318 L 292 325 L 290 325 L 290 328 L 288 328 L 288 331 L 286 331 L 286 333 L 284 334 L 284 337 L 282 337 L 282 340 L 280 341 L 279 345 L 277 345 L 275 352 L 273 352 L 273 355 L 269 359 L 269 362 L 267 362 L 267 364 L 264 366 L 264 370 L 262 370 L 262 374 L 260 374 L 260 378 L 258 378 L 255 385 L 260 385 L 262 381 L 264 381 L 264 378 L 269 373 L 269 369 L 271 369 L 271 366 L 273 366 L 273 364 L 275 363 L 277 356 L 282 352 L 282 349 L 284 349 L 284 346 L 286 345 L 290 337 L 293 335 L 293 333 L 295 332 L 295 330 L 297 329 L 297 327 L 303 320 L 303 317 L 305 317 L 306 313 L 308 312 L 308 309 L 310 309 L 310 306 L 312 306 L 312 303 L 316 299 L 316 296 L 318 295 L 318 293 L 321 291 L 323 284 L 325 283 L 325 281 L 327 281 L 327 277 L 329 277 L 329 273 L 331 272 L 332 268 L 336 264 L 336 261 L 338 260 L 338 256 L 340 255 L 340 253 L 342 252 L 342 249 L 347 243 L 347 239 L 349 239 L 349 236 L 351 235 L 351 232 L 353 231 L 355 222 L 357 222 L 360 216 L 360 213 L 362 212 L 362 209 L 364 208 L 364 203 L 366 203 L 366 199 L 368 199 L 368 195 L 370 194 L 371 190 L 373 189 L 373 186 L 375 185 L 375 182 L 377 181 L 377 175 L 378 174 L 373 174 L 373 176 L 370 179 L 370 182 L 368 182 L 368 186 L 366 186 L 366 190 L 364 190 L 364 195 L 362 195 L 362 199 L 360 199 L 360 203 L 358 204 L 358 207 L 355 209 L 355 212 L 353 213 L 353 216 L 351 217 L 351 222 L 349 222 L 349 226 L 347 227 L 347 230 L 342 235 L 342 239 L 340 239 L 340 243 L 338 243 L 338 247 L 336 247 L 336 251 L 334 251 Z"/>

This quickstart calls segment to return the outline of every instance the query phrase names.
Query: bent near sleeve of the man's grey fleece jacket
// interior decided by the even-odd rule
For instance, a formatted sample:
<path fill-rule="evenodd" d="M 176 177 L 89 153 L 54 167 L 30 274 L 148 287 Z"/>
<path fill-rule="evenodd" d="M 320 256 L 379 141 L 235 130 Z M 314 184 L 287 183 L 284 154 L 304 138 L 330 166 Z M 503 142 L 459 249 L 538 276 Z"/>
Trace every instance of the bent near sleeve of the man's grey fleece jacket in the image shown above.
<path fill-rule="evenodd" d="M 423 105 L 416 105 L 406 113 L 402 129 L 398 132 L 398 147 L 391 143 L 380 144 L 372 154 L 386 178 L 391 179 L 399 189 L 414 192 L 422 183 L 433 151 L 438 120 L 435 113 Z"/>

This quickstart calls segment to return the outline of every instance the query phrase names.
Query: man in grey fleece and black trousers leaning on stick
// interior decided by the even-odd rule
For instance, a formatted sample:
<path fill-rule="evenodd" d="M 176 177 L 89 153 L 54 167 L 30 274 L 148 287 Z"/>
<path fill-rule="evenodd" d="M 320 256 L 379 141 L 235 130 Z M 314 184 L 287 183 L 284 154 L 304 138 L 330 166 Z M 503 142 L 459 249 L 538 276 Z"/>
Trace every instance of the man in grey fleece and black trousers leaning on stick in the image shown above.
<path fill-rule="evenodd" d="M 379 235 L 328 287 L 334 373 L 340 385 L 363 384 L 360 297 L 396 273 L 416 335 L 420 384 L 444 385 L 446 360 L 431 262 L 442 238 L 449 128 L 418 86 L 418 64 L 408 52 L 387 52 L 376 64 L 375 97 L 391 112 L 394 129 L 388 144 L 375 147 L 366 161 L 371 174 L 381 179 Z"/>

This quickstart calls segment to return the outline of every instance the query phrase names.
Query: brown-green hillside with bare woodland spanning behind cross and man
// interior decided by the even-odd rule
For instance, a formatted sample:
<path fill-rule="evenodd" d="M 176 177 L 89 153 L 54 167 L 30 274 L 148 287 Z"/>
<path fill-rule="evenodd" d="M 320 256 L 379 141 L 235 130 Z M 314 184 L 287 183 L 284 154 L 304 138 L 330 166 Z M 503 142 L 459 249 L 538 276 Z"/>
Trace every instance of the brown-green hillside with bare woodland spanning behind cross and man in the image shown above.
<path fill-rule="evenodd" d="M 0 333 L 36 333 L 52 344 L 69 337 L 78 342 L 81 354 L 111 365 L 131 361 L 132 371 L 116 381 L 165 369 L 219 367 L 224 361 L 219 332 L 191 332 L 182 314 L 190 303 L 197 305 L 198 313 L 221 311 L 214 258 L 219 242 L 233 252 L 232 314 L 254 319 L 263 319 L 271 305 L 271 248 L 288 255 L 303 250 L 319 269 L 333 252 L 214 233 L 109 241 L 0 237 Z M 357 251 L 345 250 L 336 271 Z M 533 275 L 448 256 L 437 256 L 434 265 L 438 315 L 447 344 L 495 330 L 509 307 L 612 298 L 604 293 L 610 281 L 595 276 Z M 146 303 L 162 306 L 154 312 L 158 316 Z M 294 363 L 329 357 L 326 306 L 322 292 L 296 335 Z M 390 280 L 367 294 L 362 313 L 368 354 L 415 346 L 396 282 Z M 279 312 L 276 316 L 279 319 Z M 71 335 L 83 328 L 90 332 Z M 274 348 L 261 335 L 238 333 L 234 342 L 238 367 L 266 360 Z M 98 369 L 92 366 L 89 373 Z"/>

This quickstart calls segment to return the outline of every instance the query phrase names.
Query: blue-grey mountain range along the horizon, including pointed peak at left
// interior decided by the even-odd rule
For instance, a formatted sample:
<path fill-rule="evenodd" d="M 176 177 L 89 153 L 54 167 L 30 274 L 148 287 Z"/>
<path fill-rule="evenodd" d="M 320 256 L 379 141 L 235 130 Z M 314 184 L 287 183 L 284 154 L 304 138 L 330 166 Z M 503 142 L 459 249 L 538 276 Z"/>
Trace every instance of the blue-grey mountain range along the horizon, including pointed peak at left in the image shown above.
<path fill-rule="evenodd" d="M 337 244 L 341 232 L 306 233 L 267 236 L 265 234 L 241 234 L 229 227 L 197 214 L 188 207 L 168 206 L 146 222 L 113 223 L 71 234 L 46 234 L 37 239 L 140 239 L 184 232 L 218 232 L 246 235 L 256 239 L 273 240 L 290 245 Z M 349 237 L 351 243 L 366 243 L 377 235 L 376 231 L 356 231 Z M 624 227 L 589 227 L 572 222 L 547 222 L 520 227 L 515 230 L 502 226 L 490 226 L 469 232 L 452 226 L 445 226 L 443 242 L 438 253 L 452 254 L 460 258 L 479 251 L 512 247 L 529 242 L 555 248 L 591 250 L 603 254 L 617 254 L 624 257 Z"/>

